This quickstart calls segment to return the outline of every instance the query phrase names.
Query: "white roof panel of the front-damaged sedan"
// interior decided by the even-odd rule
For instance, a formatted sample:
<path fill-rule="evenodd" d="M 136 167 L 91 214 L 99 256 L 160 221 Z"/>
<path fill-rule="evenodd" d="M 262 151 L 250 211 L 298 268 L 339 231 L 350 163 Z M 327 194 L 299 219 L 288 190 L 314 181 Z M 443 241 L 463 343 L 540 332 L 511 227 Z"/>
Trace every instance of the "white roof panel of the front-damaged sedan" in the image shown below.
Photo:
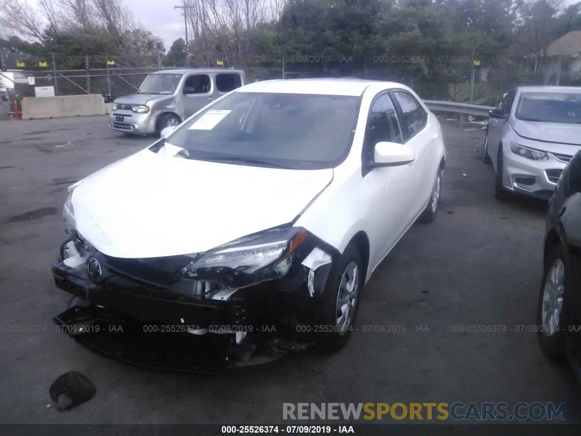
<path fill-rule="evenodd" d="M 250 83 L 236 92 L 288 92 L 289 94 L 351 95 L 359 97 L 370 85 L 381 84 L 384 88 L 401 88 L 403 85 L 380 80 L 361 78 L 293 78 L 265 80 Z"/>

